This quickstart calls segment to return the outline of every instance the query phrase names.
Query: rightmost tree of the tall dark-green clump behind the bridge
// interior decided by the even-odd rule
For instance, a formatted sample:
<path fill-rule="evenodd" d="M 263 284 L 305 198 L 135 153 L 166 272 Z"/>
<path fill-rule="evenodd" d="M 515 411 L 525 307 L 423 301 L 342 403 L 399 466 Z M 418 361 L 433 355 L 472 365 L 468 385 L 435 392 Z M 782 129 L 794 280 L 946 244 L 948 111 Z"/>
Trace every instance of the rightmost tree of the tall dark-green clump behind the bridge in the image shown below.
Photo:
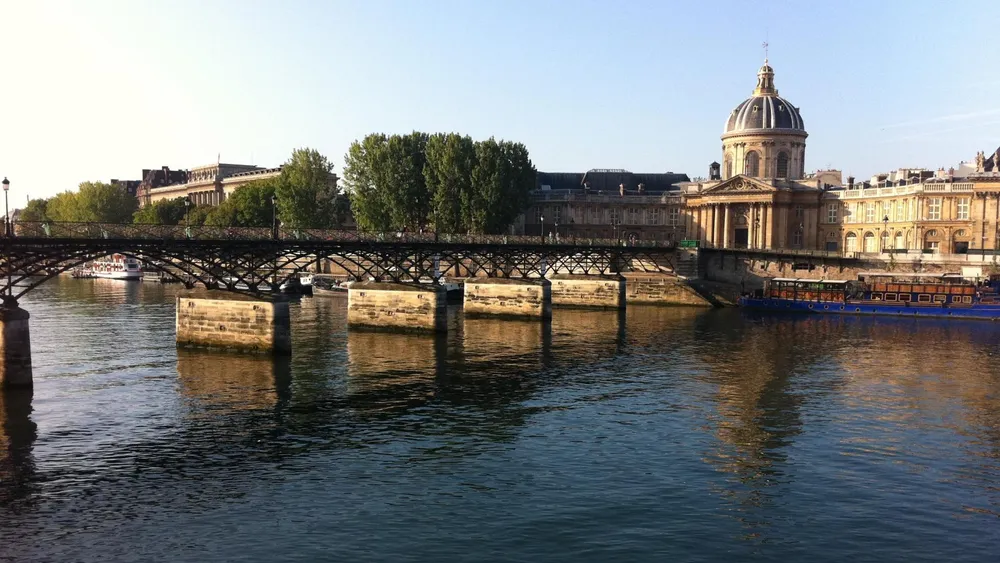
<path fill-rule="evenodd" d="M 462 198 L 462 215 L 472 232 L 502 233 L 531 203 L 535 167 L 521 143 L 476 143 L 472 189 Z"/>

